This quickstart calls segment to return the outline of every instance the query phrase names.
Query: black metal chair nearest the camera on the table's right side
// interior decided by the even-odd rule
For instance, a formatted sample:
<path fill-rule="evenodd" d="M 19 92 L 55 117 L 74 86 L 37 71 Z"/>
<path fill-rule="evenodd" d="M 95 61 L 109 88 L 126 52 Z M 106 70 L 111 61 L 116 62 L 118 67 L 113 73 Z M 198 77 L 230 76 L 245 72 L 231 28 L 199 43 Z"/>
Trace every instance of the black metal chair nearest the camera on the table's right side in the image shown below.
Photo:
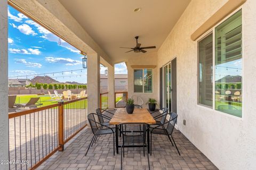
<path fill-rule="evenodd" d="M 169 121 L 165 122 L 164 124 L 162 125 L 158 125 L 158 126 L 155 126 L 155 127 L 150 127 L 149 128 L 149 131 L 150 131 L 150 155 L 152 153 L 151 151 L 151 148 L 152 148 L 152 134 L 160 134 L 160 135 L 167 135 L 167 137 L 169 138 L 169 140 L 171 141 L 172 143 L 172 140 L 173 140 L 173 143 L 180 155 L 180 152 L 179 152 L 179 149 L 172 137 L 172 132 L 173 132 L 173 129 L 174 129 L 174 126 L 175 126 L 175 123 L 177 122 L 177 118 L 178 118 L 178 115 L 176 113 L 169 113 L 170 115 L 170 118 L 169 118 Z M 167 126 L 166 126 L 167 125 Z M 163 126 L 166 126 L 163 127 Z M 172 140 L 171 140 L 171 138 Z M 172 146 L 173 146 L 173 143 L 172 143 Z"/>

